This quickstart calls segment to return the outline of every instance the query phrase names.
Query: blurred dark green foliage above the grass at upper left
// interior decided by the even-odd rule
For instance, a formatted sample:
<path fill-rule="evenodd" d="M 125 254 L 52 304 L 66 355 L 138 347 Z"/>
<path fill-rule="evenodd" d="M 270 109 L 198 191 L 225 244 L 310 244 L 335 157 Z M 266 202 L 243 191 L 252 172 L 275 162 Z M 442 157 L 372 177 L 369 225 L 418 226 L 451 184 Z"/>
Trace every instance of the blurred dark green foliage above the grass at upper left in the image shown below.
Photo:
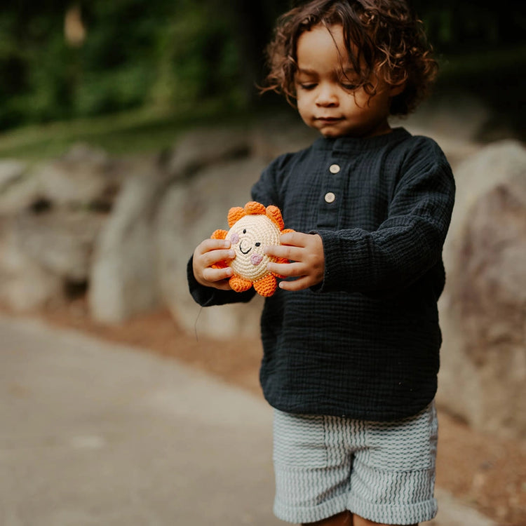
<path fill-rule="evenodd" d="M 120 112 L 189 107 L 210 98 L 243 107 L 231 20 L 189 0 L 93 0 L 86 39 L 65 39 L 69 4 L 6 8 L 0 18 L 0 129 Z"/>

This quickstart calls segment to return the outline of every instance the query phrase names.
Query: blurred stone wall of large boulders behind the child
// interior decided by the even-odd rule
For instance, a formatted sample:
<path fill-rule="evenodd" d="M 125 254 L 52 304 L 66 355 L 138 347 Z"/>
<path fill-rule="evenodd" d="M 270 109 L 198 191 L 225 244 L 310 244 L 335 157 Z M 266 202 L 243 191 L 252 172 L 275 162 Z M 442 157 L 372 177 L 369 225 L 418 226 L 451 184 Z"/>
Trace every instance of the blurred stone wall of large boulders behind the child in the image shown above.
<path fill-rule="evenodd" d="M 456 104 L 456 105 L 455 105 Z M 487 110 L 456 101 L 394 123 L 435 138 L 457 203 L 444 258 L 438 403 L 477 429 L 524 437 L 526 149 L 479 144 Z M 76 145 L 28 166 L 0 160 L 0 302 L 18 311 L 88 296 L 102 323 L 166 306 L 190 332 L 259 332 L 262 299 L 200 309 L 187 290 L 197 243 L 227 227 L 262 168 L 313 140 L 297 120 L 193 130 L 169 152 L 114 159 Z"/>

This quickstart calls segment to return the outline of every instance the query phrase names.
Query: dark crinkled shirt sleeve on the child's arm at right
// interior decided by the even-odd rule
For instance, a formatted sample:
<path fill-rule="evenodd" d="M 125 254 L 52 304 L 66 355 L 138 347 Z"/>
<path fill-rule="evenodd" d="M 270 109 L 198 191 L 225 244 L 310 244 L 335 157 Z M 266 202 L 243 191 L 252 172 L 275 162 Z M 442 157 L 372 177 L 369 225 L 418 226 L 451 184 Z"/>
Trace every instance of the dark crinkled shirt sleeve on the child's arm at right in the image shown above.
<path fill-rule="evenodd" d="M 316 292 L 390 295 L 417 281 L 442 258 L 454 203 L 445 157 L 403 168 L 386 220 L 375 231 L 319 230 L 325 275 Z"/>

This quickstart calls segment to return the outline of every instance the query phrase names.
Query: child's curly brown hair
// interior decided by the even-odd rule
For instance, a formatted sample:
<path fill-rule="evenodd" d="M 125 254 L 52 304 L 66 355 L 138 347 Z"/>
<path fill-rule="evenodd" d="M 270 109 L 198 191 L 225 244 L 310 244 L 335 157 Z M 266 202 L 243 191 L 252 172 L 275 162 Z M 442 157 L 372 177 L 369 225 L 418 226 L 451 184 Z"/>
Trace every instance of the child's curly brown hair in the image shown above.
<path fill-rule="evenodd" d="M 297 41 L 317 25 L 329 31 L 333 25 L 342 26 L 357 88 L 369 96 L 376 94 L 377 86 L 371 79 L 383 79 L 391 86 L 405 83 L 403 92 L 391 101 L 392 115 L 409 114 L 429 95 L 438 64 L 422 22 L 405 0 L 311 0 L 284 13 L 267 46 L 269 74 L 262 93 L 276 91 L 295 105 Z"/>

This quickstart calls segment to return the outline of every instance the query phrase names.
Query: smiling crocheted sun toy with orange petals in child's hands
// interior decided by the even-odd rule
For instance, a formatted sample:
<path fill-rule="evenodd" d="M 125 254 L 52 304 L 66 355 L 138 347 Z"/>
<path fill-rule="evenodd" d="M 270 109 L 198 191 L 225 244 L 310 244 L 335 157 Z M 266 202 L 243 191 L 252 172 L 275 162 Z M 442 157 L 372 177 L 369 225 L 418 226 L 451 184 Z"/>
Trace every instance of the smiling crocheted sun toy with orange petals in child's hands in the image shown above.
<path fill-rule="evenodd" d="M 234 259 L 213 265 L 215 268 L 231 267 L 234 271 L 229 283 L 232 290 L 243 292 L 252 285 L 264 297 L 276 292 L 278 274 L 267 269 L 269 262 L 288 263 L 288 259 L 269 257 L 263 249 L 267 245 L 279 245 L 281 234 L 293 232 L 283 229 L 283 217 L 277 206 L 267 208 L 261 203 L 250 201 L 244 208 L 236 206 L 228 213 L 230 230 L 216 230 L 211 238 L 228 239 L 235 252 Z"/>

